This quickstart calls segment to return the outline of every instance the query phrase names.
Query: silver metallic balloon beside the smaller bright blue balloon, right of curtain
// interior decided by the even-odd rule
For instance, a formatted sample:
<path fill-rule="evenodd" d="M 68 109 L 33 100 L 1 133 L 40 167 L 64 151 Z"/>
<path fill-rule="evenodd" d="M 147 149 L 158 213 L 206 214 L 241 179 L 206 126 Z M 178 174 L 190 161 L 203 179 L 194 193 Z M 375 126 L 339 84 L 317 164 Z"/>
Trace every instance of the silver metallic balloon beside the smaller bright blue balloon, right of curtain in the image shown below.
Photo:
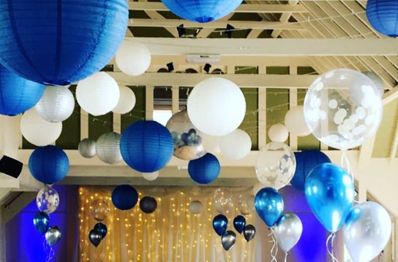
<path fill-rule="evenodd" d="M 284 252 L 289 252 L 300 240 L 302 223 L 294 213 L 284 214 L 277 222 L 274 233 Z"/>

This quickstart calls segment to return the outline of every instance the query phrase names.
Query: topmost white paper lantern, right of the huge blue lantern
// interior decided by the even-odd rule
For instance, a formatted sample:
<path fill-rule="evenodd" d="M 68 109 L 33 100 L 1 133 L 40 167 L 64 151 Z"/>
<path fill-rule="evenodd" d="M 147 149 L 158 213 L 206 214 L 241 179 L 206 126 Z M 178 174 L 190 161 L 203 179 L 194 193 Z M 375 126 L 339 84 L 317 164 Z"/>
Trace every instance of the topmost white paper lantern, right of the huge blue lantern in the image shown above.
<path fill-rule="evenodd" d="M 116 65 L 126 75 L 139 76 L 151 64 L 151 53 L 141 42 L 124 40 L 116 53 Z"/>

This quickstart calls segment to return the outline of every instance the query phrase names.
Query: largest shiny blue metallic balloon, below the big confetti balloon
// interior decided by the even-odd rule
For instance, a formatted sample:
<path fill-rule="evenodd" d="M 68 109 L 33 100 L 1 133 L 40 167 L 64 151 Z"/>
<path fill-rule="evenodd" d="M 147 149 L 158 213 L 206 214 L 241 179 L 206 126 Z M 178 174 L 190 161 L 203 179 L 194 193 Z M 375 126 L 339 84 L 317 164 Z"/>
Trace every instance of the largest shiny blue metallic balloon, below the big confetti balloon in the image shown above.
<path fill-rule="evenodd" d="M 305 181 L 307 203 L 329 232 L 338 231 L 350 214 L 354 190 L 351 175 L 330 163 L 315 167 Z"/>

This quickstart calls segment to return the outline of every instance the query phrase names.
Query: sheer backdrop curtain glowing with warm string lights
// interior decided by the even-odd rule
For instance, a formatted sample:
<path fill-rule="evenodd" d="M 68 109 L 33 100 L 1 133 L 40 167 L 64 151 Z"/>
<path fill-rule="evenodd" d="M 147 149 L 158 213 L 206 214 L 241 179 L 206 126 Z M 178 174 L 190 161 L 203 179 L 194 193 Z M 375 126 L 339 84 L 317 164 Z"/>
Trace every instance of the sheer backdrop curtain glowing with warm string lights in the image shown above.
<path fill-rule="evenodd" d="M 132 210 L 121 211 L 111 203 L 113 187 L 80 187 L 80 261 L 92 262 L 247 262 L 254 261 L 255 239 L 246 242 L 237 234 L 235 245 L 224 251 L 220 237 L 212 228 L 217 211 L 212 206 L 215 188 L 196 196 L 190 190 L 172 189 L 155 192 L 136 187 L 139 198 L 152 195 L 158 202 L 152 214 L 143 213 L 138 204 Z M 165 190 L 165 189 L 162 189 Z M 239 194 L 237 195 L 239 196 Z M 108 228 L 98 248 L 90 244 L 88 235 L 97 221 L 90 215 L 91 203 L 105 199 L 110 212 L 103 223 Z M 203 203 L 199 215 L 191 214 L 188 206 L 193 200 Z M 246 224 L 255 225 L 255 211 L 246 216 Z M 228 230 L 233 218 L 240 214 L 235 207 L 228 214 Z M 235 230 L 234 230 L 235 231 Z M 258 237 L 258 236 L 256 236 Z M 255 238 L 256 238 L 255 237 Z"/>

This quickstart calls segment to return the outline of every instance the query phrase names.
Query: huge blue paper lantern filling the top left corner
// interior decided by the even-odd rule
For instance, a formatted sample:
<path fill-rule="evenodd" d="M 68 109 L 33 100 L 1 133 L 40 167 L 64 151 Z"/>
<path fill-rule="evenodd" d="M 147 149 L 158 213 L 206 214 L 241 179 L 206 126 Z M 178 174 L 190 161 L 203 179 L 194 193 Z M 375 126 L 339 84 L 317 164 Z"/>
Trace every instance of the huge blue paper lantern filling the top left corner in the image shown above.
<path fill-rule="evenodd" d="M 0 63 L 46 85 L 100 71 L 127 29 L 126 0 L 0 0 Z"/>

